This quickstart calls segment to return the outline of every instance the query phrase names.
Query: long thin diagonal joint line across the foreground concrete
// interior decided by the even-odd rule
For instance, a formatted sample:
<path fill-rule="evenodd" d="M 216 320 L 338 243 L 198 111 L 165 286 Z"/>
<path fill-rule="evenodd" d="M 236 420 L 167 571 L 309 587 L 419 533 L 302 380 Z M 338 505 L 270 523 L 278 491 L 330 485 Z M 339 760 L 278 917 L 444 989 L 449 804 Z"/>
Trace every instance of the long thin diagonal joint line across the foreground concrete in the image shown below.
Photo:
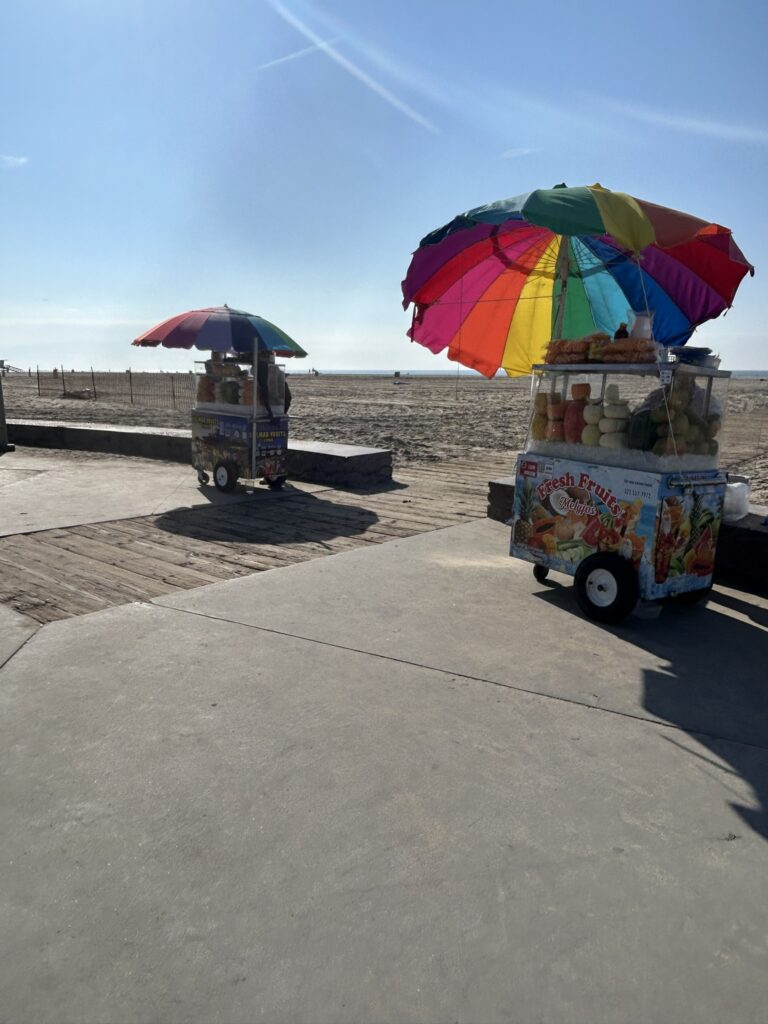
<path fill-rule="evenodd" d="M 397 665 L 408 665 L 414 669 L 424 669 L 427 672 L 436 672 L 443 676 L 453 676 L 455 679 L 466 679 L 473 683 L 485 683 L 488 686 L 498 686 L 500 689 L 513 690 L 515 693 L 527 693 L 528 696 L 542 697 L 545 700 L 555 700 L 559 703 L 572 705 L 575 708 L 586 708 L 587 711 L 602 712 L 604 715 L 615 715 L 618 718 L 628 718 L 634 722 L 639 722 L 642 725 L 654 725 L 660 729 L 670 729 L 673 732 L 682 732 L 685 733 L 686 736 L 700 736 L 703 739 L 714 739 L 721 743 L 732 743 L 736 746 L 746 746 L 751 750 L 768 753 L 768 746 L 761 743 L 750 743 L 745 739 L 733 739 L 730 736 L 721 736 L 715 732 L 702 732 L 698 729 L 686 729 L 682 725 L 675 725 L 674 722 L 664 722 L 656 718 L 646 718 L 644 715 L 632 715 L 630 712 L 617 711 L 614 708 L 599 708 L 596 705 L 590 705 L 584 700 L 575 700 L 573 697 L 561 697 L 557 696 L 555 693 L 544 693 L 541 690 L 532 690 L 526 686 L 515 686 L 514 683 L 503 683 L 498 679 L 486 679 L 484 676 L 471 676 L 466 672 L 456 672 L 452 669 L 441 669 L 434 665 L 425 665 L 422 662 L 411 662 L 404 657 L 394 657 L 392 654 L 380 654 L 378 651 L 361 650 L 359 647 L 349 647 L 346 644 L 332 643 L 330 640 L 318 640 L 316 637 L 305 637 L 300 633 L 287 633 L 285 630 L 275 630 L 268 626 L 255 626 L 253 623 L 243 623 L 239 618 L 224 618 L 222 615 L 212 615 L 205 611 L 195 611 L 191 608 L 177 608 L 171 604 L 158 603 L 158 601 L 161 600 L 162 598 L 158 598 L 150 603 L 152 603 L 156 608 L 165 608 L 167 611 L 178 611 L 186 615 L 196 615 L 199 618 L 208 618 L 215 623 L 227 623 L 230 626 L 243 626 L 247 630 L 258 630 L 261 633 L 271 633 L 274 636 L 287 637 L 291 640 L 303 640 L 306 643 L 315 643 L 323 647 L 332 647 L 335 650 L 346 650 L 351 654 L 364 654 L 368 657 L 377 657 L 383 662 L 395 662 Z"/>

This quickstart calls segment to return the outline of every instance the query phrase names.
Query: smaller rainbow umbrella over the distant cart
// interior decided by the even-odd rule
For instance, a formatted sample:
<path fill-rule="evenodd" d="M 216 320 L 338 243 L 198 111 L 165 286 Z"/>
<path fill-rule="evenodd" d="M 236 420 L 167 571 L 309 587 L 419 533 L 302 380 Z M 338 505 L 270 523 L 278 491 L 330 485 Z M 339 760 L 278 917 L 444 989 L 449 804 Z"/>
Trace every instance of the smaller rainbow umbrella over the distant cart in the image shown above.
<path fill-rule="evenodd" d="M 274 324 L 229 306 L 190 309 L 171 316 L 133 342 L 154 348 L 195 348 L 212 352 L 274 352 L 302 357 L 306 352 Z"/>

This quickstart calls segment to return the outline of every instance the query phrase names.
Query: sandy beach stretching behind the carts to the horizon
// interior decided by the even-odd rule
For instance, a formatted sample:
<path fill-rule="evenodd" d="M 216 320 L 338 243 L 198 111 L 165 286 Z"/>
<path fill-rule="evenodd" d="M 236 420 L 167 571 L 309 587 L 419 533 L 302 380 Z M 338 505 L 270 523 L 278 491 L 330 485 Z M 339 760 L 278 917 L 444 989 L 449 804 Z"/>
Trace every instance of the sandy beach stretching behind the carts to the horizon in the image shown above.
<path fill-rule="evenodd" d="M 99 375 L 104 378 L 106 375 Z M 141 378 L 134 375 L 140 394 Z M 146 375 L 154 376 L 154 375 Z M 165 375 L 170 377 L 171 375 Z M 175 375 L 179 382 L 188 375 Z M 116 381 L 125 375 L 115 374 Z M 524 443 L 528 378 L 334 376 L 291 374 L 292 433 L 302 440 L 389 447 L 395 464 L 498 456 L 499 474 L 511 472 Z M 8 419 L 41 419 L 185 428 L 179 408 L 39 396 L 34 377 L 3 381 Z M 103 388 L 105 393 L 109 388 Z M 179 388 L 179 393 L 180 393 Z M 734 378 L 722 438 L 723 468 L 752 479 L 752 500 L 768 504 L 768 380 Z"/>

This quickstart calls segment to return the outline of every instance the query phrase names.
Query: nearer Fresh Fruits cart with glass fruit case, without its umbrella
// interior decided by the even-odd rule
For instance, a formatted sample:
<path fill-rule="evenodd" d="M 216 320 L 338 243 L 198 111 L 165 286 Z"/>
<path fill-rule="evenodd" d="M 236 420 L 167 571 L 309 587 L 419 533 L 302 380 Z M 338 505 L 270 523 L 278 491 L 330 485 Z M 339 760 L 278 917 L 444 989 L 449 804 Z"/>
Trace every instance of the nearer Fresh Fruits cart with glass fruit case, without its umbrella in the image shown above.
<path fill-rule="evenodd" d="M 683 355 L 657 362 L 650 342 L 628 341 L 624 354 L 603 339 L 597 352 L 594 341 L 563 347 L 578 344 L 553 342 L 532 370 L 510 553 L 540 582 L 551 569 L 573 575 L 597 622 L 621 622 L 639 599 L 701 600 L 726 487 L 718 434 L 730 374 Z"/>

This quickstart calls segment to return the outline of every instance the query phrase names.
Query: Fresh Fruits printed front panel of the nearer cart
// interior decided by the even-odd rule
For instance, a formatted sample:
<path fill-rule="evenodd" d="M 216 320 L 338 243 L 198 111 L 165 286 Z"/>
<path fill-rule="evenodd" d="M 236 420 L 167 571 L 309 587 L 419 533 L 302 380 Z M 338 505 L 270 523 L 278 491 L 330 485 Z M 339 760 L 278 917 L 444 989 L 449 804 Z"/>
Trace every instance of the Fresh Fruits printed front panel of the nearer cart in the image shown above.
<path fill-rule="evenodd" d="M 510 554 L 572 575 L 589 555 L 616 552 L 650 584 L 657 496 L 652 473 L 520 456 Z"/>

